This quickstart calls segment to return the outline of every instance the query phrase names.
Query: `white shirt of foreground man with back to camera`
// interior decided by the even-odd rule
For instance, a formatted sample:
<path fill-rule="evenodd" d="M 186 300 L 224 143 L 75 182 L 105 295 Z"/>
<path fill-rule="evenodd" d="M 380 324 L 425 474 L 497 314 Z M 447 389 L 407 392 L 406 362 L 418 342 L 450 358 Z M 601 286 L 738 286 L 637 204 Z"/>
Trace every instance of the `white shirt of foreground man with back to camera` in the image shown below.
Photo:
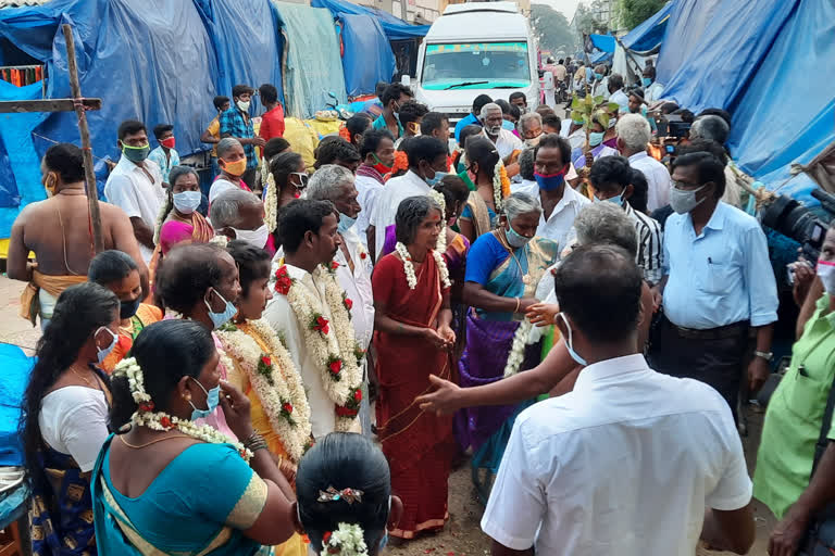
<path fill-rule="evenodd" d="M 722 396 L 628 355 L 589 365 L 573 392 L 516 418 L 482 529 L 549 556 L 693 556 L 706 506 L 750 500 Z"/>

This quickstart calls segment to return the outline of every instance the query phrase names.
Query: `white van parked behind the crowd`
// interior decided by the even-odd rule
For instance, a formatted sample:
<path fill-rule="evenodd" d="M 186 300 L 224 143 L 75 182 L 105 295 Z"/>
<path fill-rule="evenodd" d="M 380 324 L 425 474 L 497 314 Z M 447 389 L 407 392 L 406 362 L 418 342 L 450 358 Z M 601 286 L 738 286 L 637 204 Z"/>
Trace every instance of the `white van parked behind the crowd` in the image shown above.
<path fill-rule="evenodd" d="M 432 24 L 418 53 L 418 75 L 403 76 L 418 101 L 458 122 L 479 94 L 508 100 L 522 91 L 539 104 L 537 46 L 513 2 L 450 4 Z"/>

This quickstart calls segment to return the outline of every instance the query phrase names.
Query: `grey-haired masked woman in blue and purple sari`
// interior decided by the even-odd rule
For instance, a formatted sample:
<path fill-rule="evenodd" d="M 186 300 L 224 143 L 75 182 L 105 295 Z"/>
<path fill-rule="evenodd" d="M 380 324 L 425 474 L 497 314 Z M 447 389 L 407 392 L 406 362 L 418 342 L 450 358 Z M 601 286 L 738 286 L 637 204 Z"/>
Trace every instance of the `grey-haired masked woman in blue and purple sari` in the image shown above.
<path fill-rule="evenodd" d="M 556 242 L 534 237 L 541 207 L 536 198 L 513 193 L 504 201 L 499 228 L 481 236 L 466 257 L 464 302 L 472 306 L 466 317 L 466 348 L 459 364 L 461 387 L 487 384 L 504 376 L 516 330 L 528 307 L 537 303 L 536 286 L 557 258 Z M 514 355 L 519 369 L 539 363 L 539 346 L 534 344 Z M 522 406 L 468 409 L 456 422 L 461 447 L 475 451 L 473 468 L 498 469 L 501 451 Z M 478 494 L 487 500 L 489 472 L 476 482 Z M 474 477 L 484 477 L 476 472 Z"/>

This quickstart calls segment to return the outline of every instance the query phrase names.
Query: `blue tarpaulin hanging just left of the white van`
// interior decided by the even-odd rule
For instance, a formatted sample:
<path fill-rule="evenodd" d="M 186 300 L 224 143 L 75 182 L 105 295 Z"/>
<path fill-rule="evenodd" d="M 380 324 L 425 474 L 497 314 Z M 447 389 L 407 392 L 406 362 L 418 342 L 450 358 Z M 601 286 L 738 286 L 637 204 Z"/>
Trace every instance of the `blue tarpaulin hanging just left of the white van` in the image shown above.
<path fill-rule="evenodd" d="M 390 81 L 395 54 L 379 22 L 370 15 L 340 15 L 342 24 L 342 73 L 349 97 L 374 92 L 378 81 Z"/>

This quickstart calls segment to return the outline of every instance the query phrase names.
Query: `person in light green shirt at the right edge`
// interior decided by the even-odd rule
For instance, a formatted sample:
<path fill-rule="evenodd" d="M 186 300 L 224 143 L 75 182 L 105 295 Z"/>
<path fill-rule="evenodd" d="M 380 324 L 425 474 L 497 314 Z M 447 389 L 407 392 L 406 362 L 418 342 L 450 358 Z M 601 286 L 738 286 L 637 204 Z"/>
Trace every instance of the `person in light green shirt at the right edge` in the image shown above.
<path fill-rule="evenodd" d="M 817 269 L 795 269 L 795 301 L 801 306 L 792 365 L 769 401 L 757 456 L 753 495 L 781 519 L 769 554 L 797 552 L 811 519 L 835 501 L 835 447 L 827 440 L 810 482 L 824 409 L 835 379 L 835 228 L 830 227 Z M 835 439 L 830 430 L 828 439 Z"/>

